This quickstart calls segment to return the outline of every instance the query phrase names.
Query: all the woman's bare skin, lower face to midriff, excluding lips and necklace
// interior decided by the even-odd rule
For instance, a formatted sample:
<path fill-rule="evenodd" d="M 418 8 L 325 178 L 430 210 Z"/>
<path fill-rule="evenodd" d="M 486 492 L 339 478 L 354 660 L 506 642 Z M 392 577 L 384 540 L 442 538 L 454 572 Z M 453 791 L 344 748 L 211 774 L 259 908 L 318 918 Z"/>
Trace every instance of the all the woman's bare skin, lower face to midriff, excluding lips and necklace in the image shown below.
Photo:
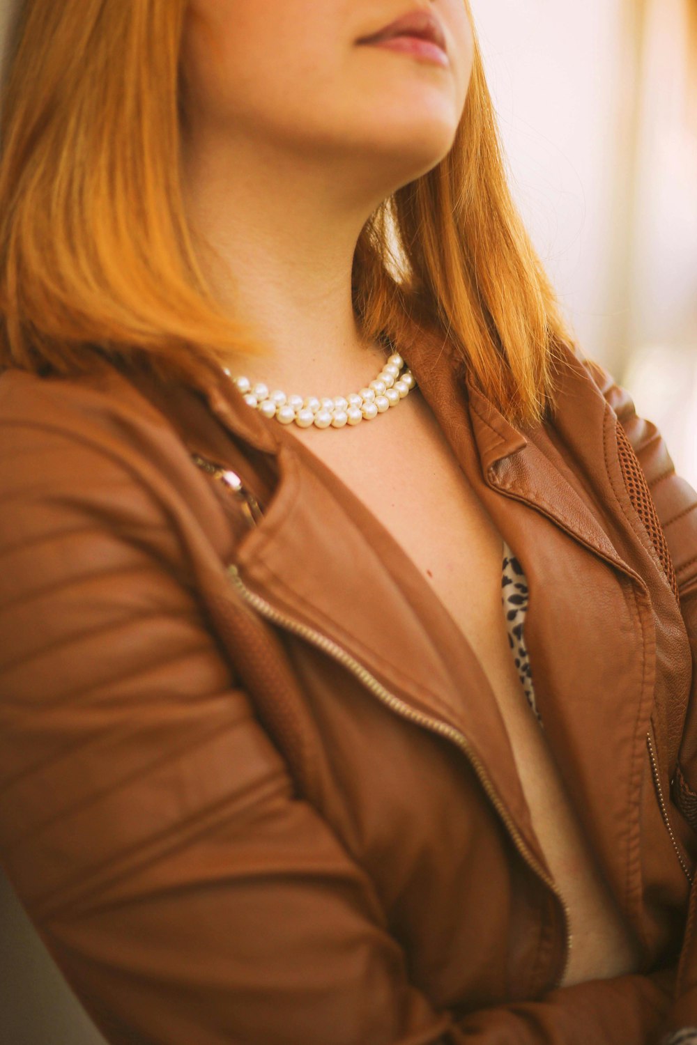
<path fill-rule="evenodd" d="M 413 6 L 443 27 L 449 63 L 358 44 Z M 385 362 L 358 330 L 355 243 L 375 208 L 448 153 L 464 109 L 472 33 L 462 0 L 191 0 L 182 50 L 182 184 L 201 263 L 265 357 L 235 374 L 339 395 Z M 207 246 L 204 246 L 207 245 Z M 214 255 L 211 253 L 211 248 Z M 503 540 L 418 390 L 354 428 L 294 435 L 365 500 L 450 612 L 506 721 L 533 823 L 571 911 L 565 982 L 636 968 L 514 669 L 501 605 Z M 384 462 L 410 454 L 386 481 Z M 414 513 L 414 486 L 420 490 Z M 443 527 L 467 533 L 454 568 Z M 466 584 L 463 581 L 466 580 Z M 467 590 L 467 599 L 462 591 Z"/>

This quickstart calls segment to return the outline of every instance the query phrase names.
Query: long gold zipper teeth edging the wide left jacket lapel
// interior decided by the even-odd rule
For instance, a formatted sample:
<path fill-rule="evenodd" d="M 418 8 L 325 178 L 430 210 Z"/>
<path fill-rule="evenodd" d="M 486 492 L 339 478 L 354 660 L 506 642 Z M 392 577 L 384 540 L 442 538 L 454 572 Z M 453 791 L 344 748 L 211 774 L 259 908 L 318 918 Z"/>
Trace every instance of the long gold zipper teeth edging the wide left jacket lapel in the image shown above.
<path fill-rule="evenodd" d="M 306 624 L 301 624 L 298 621 L 294 621 L 292 618 L 285 617 L 285 614 L 280 613 L 277 609 L 275 609 L 272 605 L 270 605 L 270 603 L 265 601 L 265 599 L 262 599 L 261 596 L 256 595 L 256 593 L 251 591 L 250 588 L 247 587 L 247 585 L 239 576 L 239 571 L 237 570 L 237 566 L 235 566 L 234 564 L 229 565 L 228 572 L 232 577 L 232 580 L 234 581 L 234 584 L 238 589 L 238 591 L 240 593 L 240 595 L 242 596 L 242 598 L 255 609 L 257 609 L 260 613 L 262 613 L 263 617 L 272 621 L 273 623 L 282 625 L 289 631 L 294 631 L 296 634 L 301 635 L 304 638 L 307 638 L 315 646 L 324 650 L 326 653 L 329 653 L 335 660 L 342 664 L 345 668 L 348 668 L 349 671 L 351 671 L 364 683 L 364 686 L 366 686 L 371 691 L 371 693 L 373 693 L 380 701 L 382 701 L 382 703 L 387 704 L 398 715 L 401 715 L 402 718 L 410 719 L 413 722 L 417 722 L 419 725 L 425 726 L 433 733 L 447 737 L 464 751 L 464 753 L 467 757 L 467 760 L 474 769 L 474 772 L 477 773 L 477 776 L 479 777 L 479 781 L 482 784 L 482 787 L 484 788 L 486 794 L 488 795 L 489 799 L 491 800 L 492 805 L 494 806 L 502 820 L 508 828 L 508 831 L 515 842 L 518 853 L 524 858 L 528 866 L 531 867 L 531 869 L 537 875 L 537 877 L 540 878 L 542 882 L 544 882 L 544 884 L 552 890 L 552 892 L 555 895 L 555 897 L 557 898 L 563 909 L 564 921 L 565 921 L 564 925 L 565 954 L 564 954 L 563 967 L 555 983 L 555 986 L 559 986 L 564 978 L 564 974 L 568 966 L 568 958 L 572 948 L 572 935 L 568 931 L 568 926 L 570 926 L 568 907 L 566 906 L 564 898 L 559 891 L 554 879 L 550 875 L 548 875 L 548 873 L 538 863 L 535 857 L 532 856 L 528 851 L 528 846 L 526 845 L 518 829 L 511 819 L 506 807 L 502 803 L 501 798 L 498 797 L 498 794 L 496 793 L 493 785 L 491 784 L 491 781 L 487 775 L 486 769 L 484 768 L 480 759 L 473 753 L 471 747 L 467 743 L 467 738 L 464 736 L 464 734 L 460 733 L 459 729 L 456 729 L 455 726 L 450 726 L 446 722 L 441 722 L 440 719 L 432 718 L 432 716 L 429 715 L 423 715 L 420 712 L 414 711 L 414 709 L 410 707 L 410 705 L 404 703 L 403 700 L 400 700 L 398 697 L 395 697 L 393 693 L 390 693 L 389 690 L 386 690 L 386 688 L 380 682 L 378 682 L 378 680 L 373 675 L 370 674 L 367 668 L 364 668 L 363 665 L 358 664 L 358 661 L 354 657 L 352 657 L 350 653 L 342 649 L 342 647 L 336 645 L 336 643 L 334 643 L 331 638 L 327 638 L 326 635 L 323 635 L 321 632 L 316 631 L 313 628 L 308 627 Z"/>

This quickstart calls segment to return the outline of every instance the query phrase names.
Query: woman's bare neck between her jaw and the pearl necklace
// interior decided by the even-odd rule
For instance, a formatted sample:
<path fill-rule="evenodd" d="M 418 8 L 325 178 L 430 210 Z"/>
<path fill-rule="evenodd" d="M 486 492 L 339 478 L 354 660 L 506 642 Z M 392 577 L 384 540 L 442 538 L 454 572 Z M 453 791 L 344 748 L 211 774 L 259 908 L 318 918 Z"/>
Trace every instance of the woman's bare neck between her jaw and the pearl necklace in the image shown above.
<path fill-rule="evenodd" d="M 184 159 L 185 205 L 201 263 L 224 307 L 268 349 L 236 354 L 234 376 L 300 395 L 339 395 L 372 380 L 389 352 L 362 338 L 351 300 L 358 234 L 379 201 L 302 161 L 258 148 L 226 157 L 198 141 Z"/>

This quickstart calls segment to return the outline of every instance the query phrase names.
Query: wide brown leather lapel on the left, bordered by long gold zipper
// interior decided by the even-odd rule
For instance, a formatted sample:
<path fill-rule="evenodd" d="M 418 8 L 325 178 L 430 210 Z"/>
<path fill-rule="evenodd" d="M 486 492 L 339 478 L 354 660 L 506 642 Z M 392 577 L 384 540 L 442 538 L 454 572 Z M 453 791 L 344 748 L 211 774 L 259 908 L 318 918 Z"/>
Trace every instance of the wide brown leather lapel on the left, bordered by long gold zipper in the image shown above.
<path fill-rule="evenodd" d="M 235 550 L 245 585 L 330 640 L 417 714 L 462 733 L 544 863 L 489 681 L 414 562 L 346 484 L 302 442 L 277 436 L 234 387 L 208 398 L 229 431 L 273 454 L 277 468 L 260 525 Z"/>

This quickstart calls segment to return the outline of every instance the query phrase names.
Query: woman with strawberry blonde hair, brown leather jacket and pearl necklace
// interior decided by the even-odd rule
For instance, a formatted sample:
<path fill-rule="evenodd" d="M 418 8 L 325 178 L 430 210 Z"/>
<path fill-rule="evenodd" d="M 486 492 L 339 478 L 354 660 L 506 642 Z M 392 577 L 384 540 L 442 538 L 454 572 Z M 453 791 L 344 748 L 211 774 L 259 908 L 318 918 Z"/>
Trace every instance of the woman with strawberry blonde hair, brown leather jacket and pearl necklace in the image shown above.
<path fill-rule="evenodd" d="M 697 1024 L 697 495 L 467 6 L 25 0 L 0 213 L 2 861 L 107 1039 Z"/>

